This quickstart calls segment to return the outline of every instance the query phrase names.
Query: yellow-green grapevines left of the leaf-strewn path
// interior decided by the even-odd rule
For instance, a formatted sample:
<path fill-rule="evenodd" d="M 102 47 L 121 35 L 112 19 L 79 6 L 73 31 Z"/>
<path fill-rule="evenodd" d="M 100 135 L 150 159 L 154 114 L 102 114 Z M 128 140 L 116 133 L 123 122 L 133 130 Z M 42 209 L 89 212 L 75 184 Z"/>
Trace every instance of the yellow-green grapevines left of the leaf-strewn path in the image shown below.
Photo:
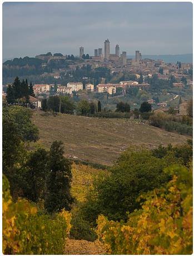
<path fill-rule="evenodd" d="M 12 200 L 3 175 L 3 253 L 63 254 L 71 228 L 71 214 L 62 210 L 48 215 L 27 200 Z"/>

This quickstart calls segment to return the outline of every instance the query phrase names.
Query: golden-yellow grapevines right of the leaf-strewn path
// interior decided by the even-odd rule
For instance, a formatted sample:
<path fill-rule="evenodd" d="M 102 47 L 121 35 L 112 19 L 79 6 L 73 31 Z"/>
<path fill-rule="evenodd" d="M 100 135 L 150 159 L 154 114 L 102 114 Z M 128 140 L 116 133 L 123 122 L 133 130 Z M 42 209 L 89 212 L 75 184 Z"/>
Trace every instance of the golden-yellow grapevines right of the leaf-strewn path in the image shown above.
<path fill-rule="evenodd" d="M 174 165 L 172 179 L 142 195 L 127 223 L 98 216 L 98 237 L 110 254 L 192 254 L 192 171 Z"/>

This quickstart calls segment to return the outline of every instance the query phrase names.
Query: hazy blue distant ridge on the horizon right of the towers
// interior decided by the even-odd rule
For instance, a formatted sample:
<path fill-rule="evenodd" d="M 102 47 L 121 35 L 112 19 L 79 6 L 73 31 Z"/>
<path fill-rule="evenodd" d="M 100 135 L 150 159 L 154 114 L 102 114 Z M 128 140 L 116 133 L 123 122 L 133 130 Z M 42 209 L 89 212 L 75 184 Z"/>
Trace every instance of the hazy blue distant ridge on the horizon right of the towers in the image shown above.
<path fill-rule="evenodd" d="M 128 55 L 128 58 L 135 58 L 134 55 Z M 180 55 L 142 55 L 142 58 L 151 58 L 152 60 L 163 60 L 166 63 L 176 63 L 181 61 L 182 63 L 192 63 L 192 53 L 180 54 Z"/>

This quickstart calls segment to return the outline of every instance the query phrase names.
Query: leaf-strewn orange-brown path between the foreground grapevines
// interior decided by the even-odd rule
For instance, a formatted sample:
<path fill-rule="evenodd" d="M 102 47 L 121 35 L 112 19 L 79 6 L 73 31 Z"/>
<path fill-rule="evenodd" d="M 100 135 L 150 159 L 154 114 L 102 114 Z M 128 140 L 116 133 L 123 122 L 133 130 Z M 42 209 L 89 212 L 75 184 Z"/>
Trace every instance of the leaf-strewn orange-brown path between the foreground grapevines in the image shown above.
<path fill-rule="evenodd" d="M 86 240 L 67 239 L 66 247 L 64 249 L 65 255 L 92 255 L 92 254 L 107 254 L 103 244 L 98 240 L 88 242 Z"/>

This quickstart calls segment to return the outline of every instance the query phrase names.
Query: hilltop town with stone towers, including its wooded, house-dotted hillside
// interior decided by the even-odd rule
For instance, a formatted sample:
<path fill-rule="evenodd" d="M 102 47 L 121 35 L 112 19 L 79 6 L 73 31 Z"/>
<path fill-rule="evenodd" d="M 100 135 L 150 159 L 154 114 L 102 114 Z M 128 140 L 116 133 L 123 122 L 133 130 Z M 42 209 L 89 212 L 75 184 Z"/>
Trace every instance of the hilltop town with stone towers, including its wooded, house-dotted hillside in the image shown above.
<path fill-rule="evenodd" d="M 4 62 L 3 99 L 16 74 L 32 82 L 40 109 L 42 100 L 53 95 L 101 100 L 106 110 L 115 110 L 120 101 L 130 104 L 131 109 L 147 101 L 152 110 L 173 107 L 177 112 L 180 102 L 192 98 L 192 63 L 142 58 L 140 51 L 135 51 L 134 59 L 127 58 L 126 51 L 120 54 L 119 45 L 115 53 L 110 52 L 108 39 L 104 45 L 104 50 L 94 49 L 94 56 L 84 53 L 81 46 L 78 56 L 48 52 Z M 37 105 L 37 100 L 31 101 Z"/>

